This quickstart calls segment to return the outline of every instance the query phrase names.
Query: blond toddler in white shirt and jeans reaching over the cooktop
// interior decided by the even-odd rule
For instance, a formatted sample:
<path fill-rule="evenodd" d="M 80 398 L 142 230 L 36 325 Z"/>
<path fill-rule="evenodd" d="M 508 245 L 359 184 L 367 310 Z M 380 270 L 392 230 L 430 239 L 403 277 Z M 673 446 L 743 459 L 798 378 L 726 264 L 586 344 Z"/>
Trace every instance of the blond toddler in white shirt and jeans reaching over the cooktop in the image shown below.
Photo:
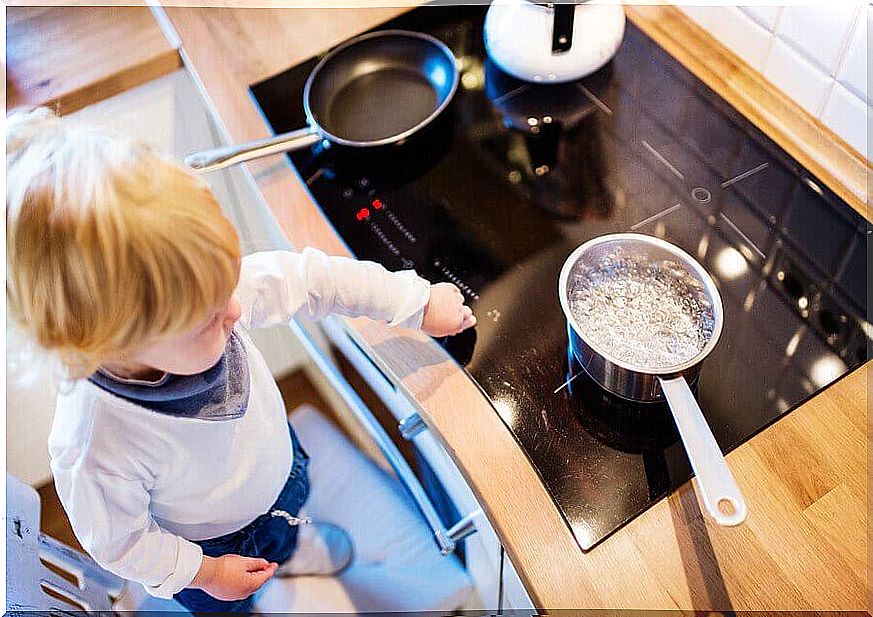
<path fill-rule="evenodd" d="M 7 117 L 6 150 L 7 302 L 66 367 L 49 450 L 82 546 L 192 611 L 347 568 L 349 535 L 297 516 L 309 456 L 246 329 L 337 313 L 446 336 L 476 322 L 461 292 L 313 249 L 241 258 L 198 177 L 45 109 Z"/>

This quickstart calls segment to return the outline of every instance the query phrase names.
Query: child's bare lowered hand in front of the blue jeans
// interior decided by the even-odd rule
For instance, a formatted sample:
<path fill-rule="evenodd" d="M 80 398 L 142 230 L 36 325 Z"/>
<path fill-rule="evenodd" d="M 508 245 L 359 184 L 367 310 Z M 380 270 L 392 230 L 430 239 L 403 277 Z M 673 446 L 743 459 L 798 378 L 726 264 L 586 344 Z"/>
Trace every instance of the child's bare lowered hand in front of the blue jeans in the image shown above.
<path fill-rule="evenodd" d="M 244 600 L 270 580 L 277 567 L 278 564 L 254 557 L 204 555 L 190 586 L 218 600 Z"/>

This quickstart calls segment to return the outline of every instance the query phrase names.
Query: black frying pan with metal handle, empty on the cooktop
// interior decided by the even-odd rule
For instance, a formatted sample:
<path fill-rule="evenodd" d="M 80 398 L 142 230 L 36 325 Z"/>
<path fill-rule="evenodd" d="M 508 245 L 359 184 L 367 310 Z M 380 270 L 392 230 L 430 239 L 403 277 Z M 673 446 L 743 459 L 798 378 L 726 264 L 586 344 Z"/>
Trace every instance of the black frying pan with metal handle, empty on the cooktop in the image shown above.
<path fill-rule="evenodd" d="M 365 34 L 328 53 L 309 74 L 306 128 L 191 154 L 185 163 L 214 171 L 324 139 L 351 148 L 396 144 L 436 118 L 457 87 L 455 57 L 438 39 L 404 30 Z"/>

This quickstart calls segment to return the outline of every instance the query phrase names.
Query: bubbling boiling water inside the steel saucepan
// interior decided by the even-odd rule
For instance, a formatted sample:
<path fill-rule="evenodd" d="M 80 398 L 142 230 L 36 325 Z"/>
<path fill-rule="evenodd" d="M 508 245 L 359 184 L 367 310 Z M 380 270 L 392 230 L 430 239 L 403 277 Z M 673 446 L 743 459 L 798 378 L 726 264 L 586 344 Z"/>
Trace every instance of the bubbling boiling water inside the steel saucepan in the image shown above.
<path fill-rule="evenodd" d="M 621 249 L 577 263 L 567 294 L 585 340 L 643 370 L 691 360 L 715 326 L 709 295 L 680 263 Z"/>

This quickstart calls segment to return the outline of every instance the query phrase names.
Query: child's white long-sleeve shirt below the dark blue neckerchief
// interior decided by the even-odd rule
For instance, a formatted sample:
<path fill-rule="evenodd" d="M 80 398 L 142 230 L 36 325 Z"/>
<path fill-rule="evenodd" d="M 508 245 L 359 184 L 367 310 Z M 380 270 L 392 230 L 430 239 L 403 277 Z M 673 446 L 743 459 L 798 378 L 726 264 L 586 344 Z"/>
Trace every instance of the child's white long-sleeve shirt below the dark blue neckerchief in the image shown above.
<path fill-rule="evenodd" d="M 234 295 L 243 328 L 330 313 L 418 328 L 429 290 L 412 271 L 306 249 L 243 258 Z M 251 339 L 237 332 L 250 371 L 240 418 L 157 413 L 85 379 L 58 397 L 49 452 L 76 537 L 101 566 L 158 597 L 172 597 L 197 574 L 203 553 L 191 540 L 231 533 L 266 512 L 291 469 L 278 387 Z"/>

